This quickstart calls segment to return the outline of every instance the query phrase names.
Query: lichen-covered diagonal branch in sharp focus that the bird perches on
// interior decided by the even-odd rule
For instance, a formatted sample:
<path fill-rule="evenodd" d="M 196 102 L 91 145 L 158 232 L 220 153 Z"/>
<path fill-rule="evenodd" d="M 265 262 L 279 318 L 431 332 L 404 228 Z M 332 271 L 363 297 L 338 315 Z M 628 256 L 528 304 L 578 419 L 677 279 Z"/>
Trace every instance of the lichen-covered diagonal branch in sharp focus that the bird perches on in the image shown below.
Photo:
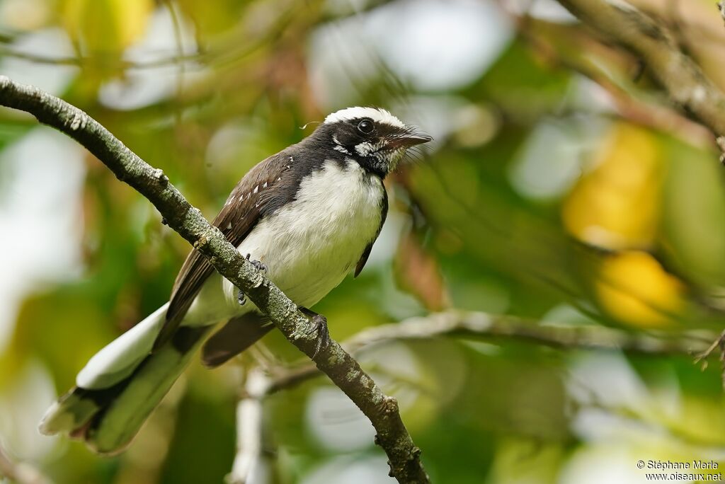
<path fill-rule="evenodd" d="M 38 88 L 14 83 L 0 76 L 0 105 L 33 114 L 38 121 L 56 128 L 91 151 L 119 180 L 128 183 L 154 204 L 173 228 L 215 269 L 244 291 L 270 317 L 285 338 L 307 354 L 317 367 L 370 419 L 377 432 L 376 443 L 384 448 L 390 474 L 400 483 L 428 483 L 421 464 L 421 450 L 403 425 L 395 399 L 386 396 L 336 341 L 316 351 L 315 331 L 305 314 L 280 289 L 270 283 L 236 250 L 202 212 L 184 198 L 162 170 L 144 162 L 86 112 Z"/>

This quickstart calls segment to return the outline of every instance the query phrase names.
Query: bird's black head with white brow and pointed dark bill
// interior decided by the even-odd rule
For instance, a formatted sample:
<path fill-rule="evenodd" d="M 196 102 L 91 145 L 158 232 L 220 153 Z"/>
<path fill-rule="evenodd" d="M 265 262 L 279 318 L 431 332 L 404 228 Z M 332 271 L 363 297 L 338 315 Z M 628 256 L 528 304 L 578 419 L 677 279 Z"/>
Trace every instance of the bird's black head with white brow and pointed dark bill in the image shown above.
<path fill-rule="evenodd" d="M 406 149 L 433 139 L 385 109 L 373 107 L 349 107 L 330 114 L 315 138 L 381 177 L 395 169 Z"/>

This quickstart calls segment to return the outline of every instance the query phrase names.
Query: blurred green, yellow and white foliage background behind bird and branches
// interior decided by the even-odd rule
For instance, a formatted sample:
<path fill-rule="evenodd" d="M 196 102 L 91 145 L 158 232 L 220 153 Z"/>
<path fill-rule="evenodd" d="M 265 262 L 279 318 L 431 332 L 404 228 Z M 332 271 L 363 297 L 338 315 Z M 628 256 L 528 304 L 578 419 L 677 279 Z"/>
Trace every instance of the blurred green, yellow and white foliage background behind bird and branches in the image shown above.
<path fill-rule="evenodd" d="M 712 0 L 633 3 L 725 88 Z M 554 0 L 0 0 L 0 73 L 86 110 L 209 218 L 336 109 L 386 107 L 434 135 L 389 180 L 368 267 L 316 308 L 339 340 L 443 310 L 705 346 L 724 327 L 711 136 Z M 119 456 L 36 431 L 87 359 L 167 300 L 188 244 L 80 146 L 9 110 L 0 233 L 7 455 L 57 483 L 223 481 L 251 362 L 195 362 Z M 279 335 L 264 345 L 268 365 L 302 361 Z M 431 338 L 360 361 L 401 401 L 434 482 L 641 483 L 638 459 L 725 464 L 720 370 L 687 351 Z M 264 405 L 254 483 L 391 482 L 373 428 L 324 378 Z"/>

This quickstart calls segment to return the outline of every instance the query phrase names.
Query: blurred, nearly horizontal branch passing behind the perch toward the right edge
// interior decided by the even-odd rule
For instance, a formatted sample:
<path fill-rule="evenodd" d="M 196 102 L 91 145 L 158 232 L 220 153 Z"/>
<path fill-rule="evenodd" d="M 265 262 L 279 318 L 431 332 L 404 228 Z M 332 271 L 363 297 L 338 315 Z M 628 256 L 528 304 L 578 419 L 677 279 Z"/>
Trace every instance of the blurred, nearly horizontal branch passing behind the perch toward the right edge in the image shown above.
<path fill-rule="evenodd" d="M 692 356 L 708 349 L 711 337 L 681 335 L 657 338 L 642 333 L 628 333 L 605 326 L 541 325 L 513 316 L 492 316 L 481 312 L 442 312 L 413 317 L 396 324 L 370 327 L 343 343 L 355 356 L 392 341 L 409 341 L 440 337 L 484 339 L 503 338 L 526 341 L 561 349 L 626 351 L 650 355 L 682 354 Z M 267 387 L 267 395 L 320 375 L 317 368 L 306 365 L 276 375 Z"/>

